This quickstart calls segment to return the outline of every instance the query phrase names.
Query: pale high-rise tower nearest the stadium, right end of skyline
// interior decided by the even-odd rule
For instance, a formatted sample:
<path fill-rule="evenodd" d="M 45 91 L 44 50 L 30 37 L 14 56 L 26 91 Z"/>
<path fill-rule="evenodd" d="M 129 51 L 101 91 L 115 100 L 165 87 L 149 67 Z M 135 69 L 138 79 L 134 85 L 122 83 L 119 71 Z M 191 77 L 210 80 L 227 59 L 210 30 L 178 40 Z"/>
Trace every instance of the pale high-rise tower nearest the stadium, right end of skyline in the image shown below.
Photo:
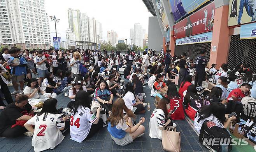
<path fill-rule="evenodd" d="M 132 43 L 143 47 L 145 32 L 145 29 L 143 29 L 139 23 L 135 23 L 133 29 L 130 29 L 130 37 L 132 38 Z"/>

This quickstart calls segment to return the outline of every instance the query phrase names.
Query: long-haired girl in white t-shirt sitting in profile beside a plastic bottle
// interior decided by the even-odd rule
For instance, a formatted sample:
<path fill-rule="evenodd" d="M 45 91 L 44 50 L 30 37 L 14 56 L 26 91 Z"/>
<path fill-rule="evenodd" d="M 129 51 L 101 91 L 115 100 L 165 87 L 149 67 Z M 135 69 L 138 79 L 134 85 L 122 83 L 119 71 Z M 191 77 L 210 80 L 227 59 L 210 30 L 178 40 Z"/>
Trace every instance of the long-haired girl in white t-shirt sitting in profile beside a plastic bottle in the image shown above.
<path fill-rule="evenodd" d="M 136 88 L 135 83 L 130 81 L 126 84 L 125 87 L 126 87 L 126 89 L 124 92 L 123 99 L 124 99 L 124 103 L 125 103 L 126 107 L 130 110 L 132 110 L 133 107 L 136 107 L 137 109 L 134 111 L 135 114 L 145 113 L 146 110 L 145 110 L 144 106 L 146 106 L 147 103 L 143 103 L 135 96 L 135 92 L 134 92 L 134 89 Z"/>

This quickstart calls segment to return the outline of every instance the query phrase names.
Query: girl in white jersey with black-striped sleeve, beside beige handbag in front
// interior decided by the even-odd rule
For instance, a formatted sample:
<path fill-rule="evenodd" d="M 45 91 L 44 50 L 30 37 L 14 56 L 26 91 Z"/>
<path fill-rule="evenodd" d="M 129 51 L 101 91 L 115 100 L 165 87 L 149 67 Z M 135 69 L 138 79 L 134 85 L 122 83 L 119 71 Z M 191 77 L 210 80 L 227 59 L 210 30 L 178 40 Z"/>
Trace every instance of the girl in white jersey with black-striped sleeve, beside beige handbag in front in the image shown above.
<path fill-rule="evenodd" d="M 151 114 L 149 121 L 149 137 L 158 138 L 162 140 L 162 130 L 171 123 L 170 119 L 167 119 L 168 111 L 167 106 L 170 100 L 163 97 Z M 176 126 L 175 123 L 173 123 Z"/>

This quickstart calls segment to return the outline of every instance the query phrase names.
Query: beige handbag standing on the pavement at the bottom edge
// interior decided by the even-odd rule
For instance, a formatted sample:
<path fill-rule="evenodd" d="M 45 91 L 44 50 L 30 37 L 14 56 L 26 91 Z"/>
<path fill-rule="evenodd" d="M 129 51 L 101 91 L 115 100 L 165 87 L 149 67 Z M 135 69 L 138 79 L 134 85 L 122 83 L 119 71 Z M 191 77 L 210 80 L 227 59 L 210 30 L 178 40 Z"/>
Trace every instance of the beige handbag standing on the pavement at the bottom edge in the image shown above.
<path fill-rule="evenodd" d="M 176 128 L 169 126 L 162 131 L 163 150 L 168 152 L 181 152 L 181 133 Z"/>

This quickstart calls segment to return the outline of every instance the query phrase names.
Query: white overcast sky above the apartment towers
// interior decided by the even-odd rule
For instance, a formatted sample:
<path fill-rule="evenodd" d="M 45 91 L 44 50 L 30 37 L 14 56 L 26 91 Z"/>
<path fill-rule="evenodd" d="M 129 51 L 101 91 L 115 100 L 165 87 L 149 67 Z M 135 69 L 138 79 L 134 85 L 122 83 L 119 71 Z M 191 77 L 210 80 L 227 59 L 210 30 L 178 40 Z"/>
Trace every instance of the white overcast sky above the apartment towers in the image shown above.
<path fill-rule="evenodd" d="M 107 41 L 107 31 L 116 31 L 119 38 L 129 39 L 130 29 L 134 23 L 139 23 L 148 33 L 148 12 L 142 0 L 45 0 L 46 12 L 49 16 L 60 19 L 56 25 L 58 37 L 66 40 L 65 31 L 68 28 L 67 10 L 79 9 L 89 17 L 95 17 L 102 23 L 103 40 Z M 51 41 L 55 36 L 54 22 L 49 19 Z M 127 40 L 127 43 L 130 41 Z"/>

